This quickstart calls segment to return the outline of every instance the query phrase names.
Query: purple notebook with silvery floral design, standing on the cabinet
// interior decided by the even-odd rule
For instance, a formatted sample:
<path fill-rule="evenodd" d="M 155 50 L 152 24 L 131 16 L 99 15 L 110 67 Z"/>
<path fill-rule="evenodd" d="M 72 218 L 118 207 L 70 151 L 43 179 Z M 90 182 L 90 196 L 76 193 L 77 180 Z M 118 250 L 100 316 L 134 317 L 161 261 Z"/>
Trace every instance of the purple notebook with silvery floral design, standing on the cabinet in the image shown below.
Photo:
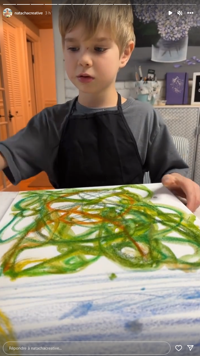
<path fill-rule="evenodd" d="M 188 104 L 188 73 L 166 73 L 167 105 Z"/>

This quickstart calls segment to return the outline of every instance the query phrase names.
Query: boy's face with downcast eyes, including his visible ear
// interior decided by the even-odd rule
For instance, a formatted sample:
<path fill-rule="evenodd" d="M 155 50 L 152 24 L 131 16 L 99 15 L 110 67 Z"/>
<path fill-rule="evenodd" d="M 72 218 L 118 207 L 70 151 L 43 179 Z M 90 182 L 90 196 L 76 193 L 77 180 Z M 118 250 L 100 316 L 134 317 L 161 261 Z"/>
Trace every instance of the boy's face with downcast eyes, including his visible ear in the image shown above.
<path fill-rule="evenodd" d="M 76 26 L 65 35 L 64 58 L 68 78 L 80 92 L 100 93 L 115 85 L 118 69 L 126 65 L 134 45 L 128 47 L 120 57 L 119 48 L 109 36 L 109 31 L 99 30 L 86 41 L 84 26 Z"/>

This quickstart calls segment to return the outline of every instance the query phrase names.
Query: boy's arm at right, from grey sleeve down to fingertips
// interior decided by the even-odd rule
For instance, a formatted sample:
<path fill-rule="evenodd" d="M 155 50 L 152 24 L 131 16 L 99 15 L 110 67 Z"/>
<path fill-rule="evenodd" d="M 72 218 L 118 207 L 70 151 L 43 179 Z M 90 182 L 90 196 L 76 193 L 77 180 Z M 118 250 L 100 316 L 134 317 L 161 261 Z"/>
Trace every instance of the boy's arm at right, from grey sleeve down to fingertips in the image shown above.
<path fill-rule="evenodd" d="M 200 206 L 200 187 L 186 177 L 188 164 L 179 155 L 166 124 L 155 111 L 153 121 L 158 126 L 155 133 L 151 131 L 147 150 L 151 182 L 162 182 L 173 194 L 186 198 L 187 208 L 194 213 Z"/>

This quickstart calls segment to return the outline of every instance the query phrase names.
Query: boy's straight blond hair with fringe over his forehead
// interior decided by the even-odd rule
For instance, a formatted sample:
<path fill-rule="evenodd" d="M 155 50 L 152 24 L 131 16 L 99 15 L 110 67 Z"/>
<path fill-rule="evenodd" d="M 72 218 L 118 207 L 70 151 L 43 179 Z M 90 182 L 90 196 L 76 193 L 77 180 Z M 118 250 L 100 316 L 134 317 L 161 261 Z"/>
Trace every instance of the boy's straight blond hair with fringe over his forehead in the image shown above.
<path fill-rule="evenodd" d="M 67 0 L 59 9 L 59 30 L 64 39 L 77 24 L 83 23 L 86 28 L 86 39 L 91 38 L 99 28 L 109 28 L 111 36 L 123 52 L 130 41 L 134 41 L 133 9 L 131 5 L 121 5 L 121 0 Z M 112 4 L 111 4 L 112 2 Z M 130 1 L 126 2 L 130 4 Z M 96 6 L 95 6 L 96 5 Z"/>

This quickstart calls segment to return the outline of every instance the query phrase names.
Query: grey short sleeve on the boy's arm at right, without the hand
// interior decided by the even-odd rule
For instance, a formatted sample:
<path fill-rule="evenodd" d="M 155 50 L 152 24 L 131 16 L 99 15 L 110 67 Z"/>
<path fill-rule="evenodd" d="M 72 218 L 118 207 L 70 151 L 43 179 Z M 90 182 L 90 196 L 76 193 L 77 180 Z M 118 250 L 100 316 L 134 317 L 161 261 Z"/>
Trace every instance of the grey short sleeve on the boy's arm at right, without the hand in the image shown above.
<path fill-rule="evenodd" d="M 175 147 L 167 125 L 155 110 L 153 110 L 153 115 L 154 123 L 146 156 L 151 182 L 161 182 L 162 177 L 170 173 L 179 173 L 187 177 L 189 166 Z"/>

